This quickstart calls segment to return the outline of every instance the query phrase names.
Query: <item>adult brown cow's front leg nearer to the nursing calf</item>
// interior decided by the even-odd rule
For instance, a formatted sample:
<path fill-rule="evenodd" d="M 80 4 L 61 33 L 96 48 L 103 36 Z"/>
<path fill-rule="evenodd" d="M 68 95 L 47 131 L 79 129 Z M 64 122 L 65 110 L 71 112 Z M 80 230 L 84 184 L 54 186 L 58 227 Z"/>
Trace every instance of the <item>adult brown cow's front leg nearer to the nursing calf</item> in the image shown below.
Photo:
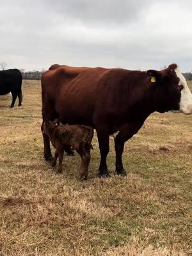
<path fill-rule="evenodd" d="M 109 153 L 109 134 L 97 131 L 97 137 L 99 141 L 100 150 L 100 164 L 99 164 L 99 176 L 109 177 L 108 166 L 107 166 L 107 156 Z"/>

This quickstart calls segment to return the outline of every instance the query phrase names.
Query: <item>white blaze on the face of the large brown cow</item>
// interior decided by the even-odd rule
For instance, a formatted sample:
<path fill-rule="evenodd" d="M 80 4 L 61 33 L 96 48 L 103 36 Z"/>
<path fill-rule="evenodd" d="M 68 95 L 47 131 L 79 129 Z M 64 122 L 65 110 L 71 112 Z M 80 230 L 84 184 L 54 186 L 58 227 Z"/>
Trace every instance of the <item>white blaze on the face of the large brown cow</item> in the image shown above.
<path fill-rule="evenodd" d="M 188 115 L 192 113 L 192 94 L 189 90 L 185 77 L 181 74 L 179 67 L 175 69 L 177 77 L 179 77 L 179 84 L 182 84 L 183 89 L 181 90 L 180 97 L 180 108 L 179 111 Z"/>

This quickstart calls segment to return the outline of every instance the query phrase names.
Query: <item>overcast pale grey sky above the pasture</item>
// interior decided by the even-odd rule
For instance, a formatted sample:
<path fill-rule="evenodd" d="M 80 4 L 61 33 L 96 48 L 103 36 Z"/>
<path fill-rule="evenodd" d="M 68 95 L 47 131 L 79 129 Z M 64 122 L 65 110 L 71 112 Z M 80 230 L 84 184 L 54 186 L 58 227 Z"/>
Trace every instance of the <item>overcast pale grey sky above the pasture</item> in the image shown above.
<path fill-rule="evenodd" d="M 191 0 L 6 0 L 0 62 L 41 70 L 54 63 L 192 70 Z"/>

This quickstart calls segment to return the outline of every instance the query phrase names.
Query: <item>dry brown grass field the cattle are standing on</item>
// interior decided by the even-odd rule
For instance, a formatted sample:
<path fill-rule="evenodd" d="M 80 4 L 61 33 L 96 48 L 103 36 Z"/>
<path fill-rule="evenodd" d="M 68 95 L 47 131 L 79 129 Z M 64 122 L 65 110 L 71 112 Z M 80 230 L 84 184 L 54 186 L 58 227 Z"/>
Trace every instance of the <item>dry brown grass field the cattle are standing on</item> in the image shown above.
<path fill-rule="evenodd" d="M 191 83 L 192 88 L 192 83 Z M 40 81 L 23 81 L 23 106 L 0 97 L 0 255 L 190 255 L 192 116 L 151 115 L 125 145 L 127 177 L 88 180 L 79 156 L 56 175 L 43 158 Z M 18 102 L 16 102 L 18 104 Z"/>

